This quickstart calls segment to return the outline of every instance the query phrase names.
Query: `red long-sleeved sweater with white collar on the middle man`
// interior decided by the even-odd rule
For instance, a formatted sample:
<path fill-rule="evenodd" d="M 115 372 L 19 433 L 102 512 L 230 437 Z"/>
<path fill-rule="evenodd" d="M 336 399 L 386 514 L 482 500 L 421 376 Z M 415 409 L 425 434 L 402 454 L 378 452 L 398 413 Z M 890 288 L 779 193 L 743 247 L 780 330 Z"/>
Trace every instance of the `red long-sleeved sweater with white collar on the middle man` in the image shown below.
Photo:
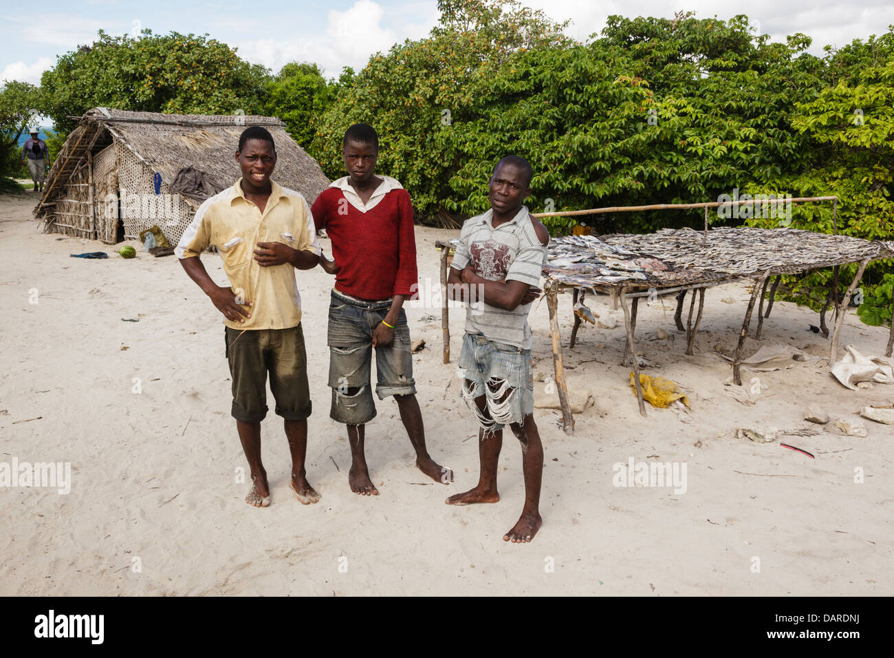
<path fill-rule="evenodd" d="M 410 286 L 418 279 L 416 236 L 406 190 L 392 190 L 373 209 L 361 212 L 340 189 L 327 187 L 310 212 L 316 228 L 325 228 L 332 239 L 339 268 L 335 287 L 340 292 L 360 299 L 413 295 Z"/>

